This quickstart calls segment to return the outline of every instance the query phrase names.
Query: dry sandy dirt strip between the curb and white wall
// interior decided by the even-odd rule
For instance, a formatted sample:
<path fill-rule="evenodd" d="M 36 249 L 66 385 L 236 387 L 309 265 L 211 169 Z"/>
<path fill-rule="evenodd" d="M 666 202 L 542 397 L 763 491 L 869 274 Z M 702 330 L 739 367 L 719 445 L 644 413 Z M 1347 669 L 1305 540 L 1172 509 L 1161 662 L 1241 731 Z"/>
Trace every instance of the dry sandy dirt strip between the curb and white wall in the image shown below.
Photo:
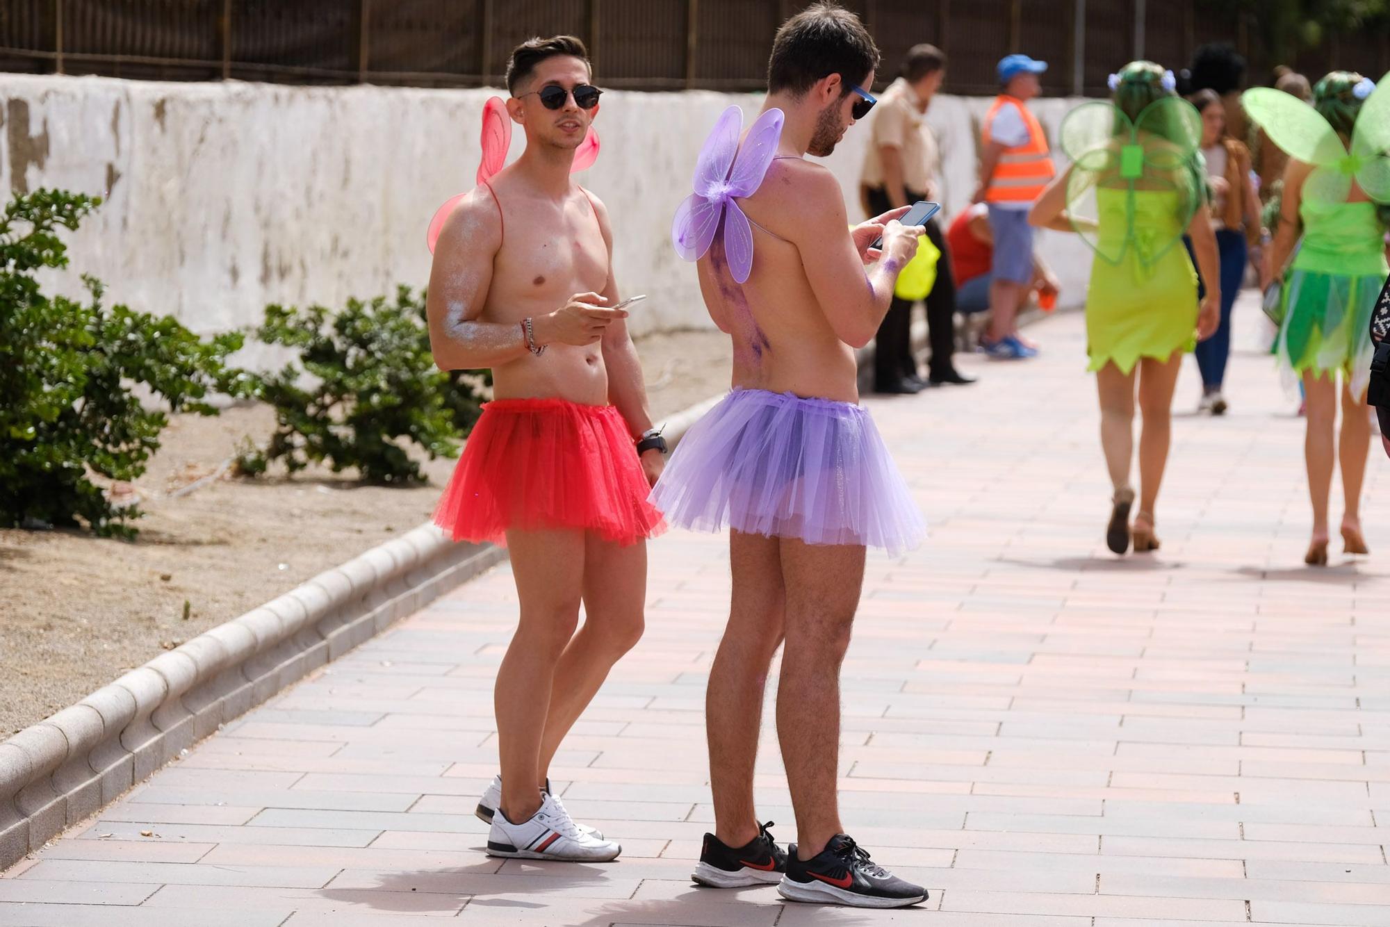
<path fill-rule="evenodd" d="M 719 332 L 655 335 L 638 352 L 657 423 L 728 386 Z M 135 542 L 0 531 L 0 739 L 414 528 L 453 467 L 430 461 L 430 484 L 416 488 L 364 486 L 327 468 L 217 475 L 243 436 L 263 439 L 272 424 L 265 406 L 175 417 L 135 485 L 146 510 Z"/>

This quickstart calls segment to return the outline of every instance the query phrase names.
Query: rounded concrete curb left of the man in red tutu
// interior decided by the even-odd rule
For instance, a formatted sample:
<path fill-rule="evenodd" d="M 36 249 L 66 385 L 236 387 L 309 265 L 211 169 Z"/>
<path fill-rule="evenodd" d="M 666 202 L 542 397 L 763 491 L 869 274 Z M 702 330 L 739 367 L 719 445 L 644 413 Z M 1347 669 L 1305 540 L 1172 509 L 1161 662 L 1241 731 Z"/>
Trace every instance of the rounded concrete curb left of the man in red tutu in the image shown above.
<path fill-rule="evenodd" d="M 0 870 L 218 725 L 505 559 L 424 524 L 19 731 L 0 744 Z"/>

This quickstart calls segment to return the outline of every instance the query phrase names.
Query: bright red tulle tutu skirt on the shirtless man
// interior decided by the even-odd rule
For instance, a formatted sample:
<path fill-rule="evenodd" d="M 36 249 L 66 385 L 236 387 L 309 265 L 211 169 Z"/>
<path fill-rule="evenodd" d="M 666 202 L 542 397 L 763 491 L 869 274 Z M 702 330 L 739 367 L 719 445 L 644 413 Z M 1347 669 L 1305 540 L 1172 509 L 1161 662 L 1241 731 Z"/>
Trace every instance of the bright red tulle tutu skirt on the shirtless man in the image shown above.
<path fill-rule="evenodd" d="M 666 525 L 623 417 L 564 399 L 496 399 L 468 435 L 436 525 L 506 545 L 506 531 L 580 528 L 635 543 Z"/>

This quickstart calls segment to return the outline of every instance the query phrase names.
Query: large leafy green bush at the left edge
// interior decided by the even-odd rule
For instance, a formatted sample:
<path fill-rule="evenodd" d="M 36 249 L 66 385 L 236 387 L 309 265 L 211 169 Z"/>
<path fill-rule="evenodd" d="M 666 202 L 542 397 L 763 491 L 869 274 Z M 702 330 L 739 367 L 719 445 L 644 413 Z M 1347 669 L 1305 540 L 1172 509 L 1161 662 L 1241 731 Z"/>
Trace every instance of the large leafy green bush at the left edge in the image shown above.
<path fill-rule="evenodd" d="M 117 507 L 92 474 L 129 481 L 145 473 L 168 424 L 138 386 L 174 411 L 213 416 L 210 392 L 238 392 L 227 356 L 238 334 L 207 341 L 172 317 L 107 307 L 101 284 L 88 297 L 47 296 L 40 268 L 68 264 L 61 228 L 75 229 L 100 203 L 40 189 L 0 215 L 0 527 L 76 527 L 133 536 L 133 506 Z"/>

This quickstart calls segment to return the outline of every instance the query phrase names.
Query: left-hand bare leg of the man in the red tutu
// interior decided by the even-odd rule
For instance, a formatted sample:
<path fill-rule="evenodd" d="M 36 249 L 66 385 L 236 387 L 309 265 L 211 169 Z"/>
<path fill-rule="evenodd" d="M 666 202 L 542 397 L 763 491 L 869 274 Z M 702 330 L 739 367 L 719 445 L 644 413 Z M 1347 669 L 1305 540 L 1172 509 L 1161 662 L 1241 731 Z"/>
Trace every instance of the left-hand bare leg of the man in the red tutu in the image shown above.
<path fill-rule="evenodd" d="M 502 813 L 530 820 L 541 807 L 541 738 L 555 671 L 580 621 L 582 531 L 509 531 L 521 620 L 498 668 L 493 710 L 502 757 Z"/>

